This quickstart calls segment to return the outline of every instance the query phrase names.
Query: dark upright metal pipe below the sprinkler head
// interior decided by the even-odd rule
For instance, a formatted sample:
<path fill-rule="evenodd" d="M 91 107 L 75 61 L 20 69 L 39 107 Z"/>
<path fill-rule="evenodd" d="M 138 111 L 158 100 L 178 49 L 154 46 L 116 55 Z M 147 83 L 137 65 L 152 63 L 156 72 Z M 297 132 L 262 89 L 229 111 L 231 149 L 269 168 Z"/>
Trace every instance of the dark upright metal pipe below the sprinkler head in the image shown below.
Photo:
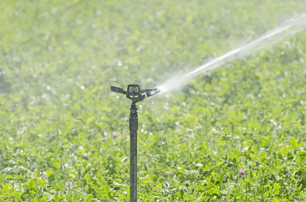
<path fill-rule="evenodd" d="M 130 202 L 137 201 L 137 106 L 132 103 L 130 108 Z"/>

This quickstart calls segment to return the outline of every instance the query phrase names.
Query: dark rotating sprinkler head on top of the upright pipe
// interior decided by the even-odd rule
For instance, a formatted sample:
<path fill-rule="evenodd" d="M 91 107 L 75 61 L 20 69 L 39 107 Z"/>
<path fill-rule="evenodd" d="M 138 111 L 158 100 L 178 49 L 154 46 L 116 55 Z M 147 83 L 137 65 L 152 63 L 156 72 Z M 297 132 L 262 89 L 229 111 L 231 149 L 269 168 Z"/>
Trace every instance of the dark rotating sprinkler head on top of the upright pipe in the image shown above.
<path fill-rule="evenodd" d="M 161 90 L 158 89 L 158 87 L 156 87 L 155 89 L 141 90 L 140 86 L 138 84 L 135 84 L 135 82 L 133 84 L 127 85 L 126 91 L 115 86 L 111 86 L 111 91 L 126 95 L 126 97 L 132 100 L 134 104 L 144 100 L 146 97 L 150 97 L 152 95 L 156 95 L 159 92 L 161 92 Z"/>

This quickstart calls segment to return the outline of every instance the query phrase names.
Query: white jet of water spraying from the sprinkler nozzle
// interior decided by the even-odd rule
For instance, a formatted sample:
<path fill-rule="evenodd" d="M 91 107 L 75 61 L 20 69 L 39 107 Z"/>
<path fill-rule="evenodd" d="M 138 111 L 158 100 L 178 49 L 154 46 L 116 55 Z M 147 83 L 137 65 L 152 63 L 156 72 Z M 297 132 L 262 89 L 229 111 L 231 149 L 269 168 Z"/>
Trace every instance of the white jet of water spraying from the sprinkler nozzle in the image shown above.
<path fill-rule="evenodd" d="M 203 72 L 209 71 L 227 62 L 245 57 L 253 52 L 268 46 L 274 45 L 284 38 L 294 35 L 300 31 L 306 29 L 306 14 L 295 15 L 285 22 L 281 26 L 274 28 L 273 30 L 265 33 L 258 39 L 244 43 L 243 45 L 231 50 L 215 59 L 208 61 L 207 63 L 197 67 L 196 69 L 187 72 L 181 71 L 170 77 L 166 82 L 159 86 L 161 92 L 169 92 L 173 90 L 180 90 L 189 83 L 194 77 Z"/>

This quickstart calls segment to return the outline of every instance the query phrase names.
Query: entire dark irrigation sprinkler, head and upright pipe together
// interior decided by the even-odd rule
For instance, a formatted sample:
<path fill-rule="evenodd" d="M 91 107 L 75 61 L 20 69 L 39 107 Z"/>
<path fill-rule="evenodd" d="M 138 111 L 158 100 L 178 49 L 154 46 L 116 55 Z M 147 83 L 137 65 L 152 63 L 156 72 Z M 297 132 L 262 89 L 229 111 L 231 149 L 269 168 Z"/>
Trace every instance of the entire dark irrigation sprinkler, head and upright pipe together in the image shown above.
<path fill-rule="evenodd" d="M 158 94 L 160 89 L 144 89 L 140 90 L 138 84 L 127 85 L 127 90 L 111 86 L 111 91 L 126 95 L 127 98 L 132 100 L 130 108 L 130 202 L 137 201 L 137 130 L 138 130 L 138 113 L 136 103 L 144 100 L 146 97 Z"/>

